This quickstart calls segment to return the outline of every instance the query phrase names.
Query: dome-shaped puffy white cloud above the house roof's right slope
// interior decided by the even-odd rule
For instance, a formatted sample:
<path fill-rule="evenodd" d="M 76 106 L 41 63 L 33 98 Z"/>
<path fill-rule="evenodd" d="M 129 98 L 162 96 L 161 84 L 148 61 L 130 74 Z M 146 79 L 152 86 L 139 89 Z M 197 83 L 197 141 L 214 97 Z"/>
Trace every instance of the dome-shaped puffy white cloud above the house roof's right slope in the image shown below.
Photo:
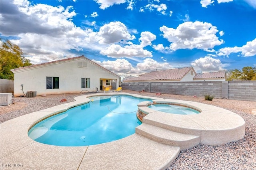
<path fill-rule="evenodd" d="M 109 24 L 105 24 L 100 27 L 98 36 L 101 37 L 99 41 L 100 44 L 116 43 L 121 41 L 122 39 L 135 39 L 135 36 L 130 35 L 130 33 L 127 31 L 126 26 L 120 21 L 110 22 Z"/>

